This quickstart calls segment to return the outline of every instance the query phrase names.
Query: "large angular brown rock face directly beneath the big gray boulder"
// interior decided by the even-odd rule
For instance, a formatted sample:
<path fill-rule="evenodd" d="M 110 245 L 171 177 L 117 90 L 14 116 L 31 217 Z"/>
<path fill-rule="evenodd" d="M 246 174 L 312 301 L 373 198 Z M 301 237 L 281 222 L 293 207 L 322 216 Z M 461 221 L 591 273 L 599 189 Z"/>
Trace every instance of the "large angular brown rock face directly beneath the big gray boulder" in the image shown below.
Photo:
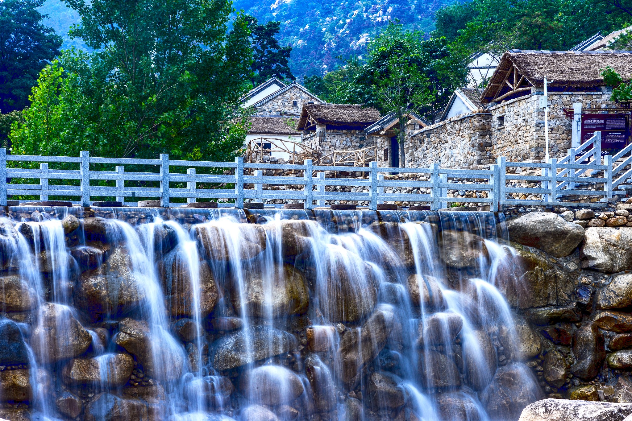
<path fill-rule="evenodd" d="M 576 276 L 559 268 L 542 252 L 529 252 L 520 245 L 516 245 L 516 252 L 521 266 L 518 285 L 523 285 L 517 291 L 517 304 L 521 309 L 574 302 Z"/>

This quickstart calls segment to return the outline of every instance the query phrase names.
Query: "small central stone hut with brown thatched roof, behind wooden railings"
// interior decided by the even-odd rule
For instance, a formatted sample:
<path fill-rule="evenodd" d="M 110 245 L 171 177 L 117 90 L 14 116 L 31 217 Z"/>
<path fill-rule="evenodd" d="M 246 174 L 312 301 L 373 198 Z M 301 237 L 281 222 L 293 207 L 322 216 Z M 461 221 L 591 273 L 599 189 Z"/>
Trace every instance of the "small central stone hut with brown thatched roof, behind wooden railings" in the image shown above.
<path fill-rule="evenodd" d="M 301 142 L 318 151 L 321 163 L 333 162 L 336 150 L 358 151 L 377 146 L 364 129 L 380 119 L 374 108 L 356 104 L 305 104 L 298 121 Z M 375 151 L 365 151 L 375 155 Z M 371 159 L 374 160 L 374 159 Z"/>

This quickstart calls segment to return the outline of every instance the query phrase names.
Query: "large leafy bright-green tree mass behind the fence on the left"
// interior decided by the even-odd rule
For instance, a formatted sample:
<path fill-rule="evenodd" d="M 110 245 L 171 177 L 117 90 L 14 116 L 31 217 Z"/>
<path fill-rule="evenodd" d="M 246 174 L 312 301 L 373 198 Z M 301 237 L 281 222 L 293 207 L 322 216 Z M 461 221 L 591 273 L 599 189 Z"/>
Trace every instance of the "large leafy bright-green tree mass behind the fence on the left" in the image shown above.
<path fill-rule="evenodd" d="M 228 0 L 67 0 L 94 49 L 68 50 L 40 75 L 13 148 L 37 155 L 226 160 L 243 145 L 236 116 L 250 81 L 247 21 Z"/>

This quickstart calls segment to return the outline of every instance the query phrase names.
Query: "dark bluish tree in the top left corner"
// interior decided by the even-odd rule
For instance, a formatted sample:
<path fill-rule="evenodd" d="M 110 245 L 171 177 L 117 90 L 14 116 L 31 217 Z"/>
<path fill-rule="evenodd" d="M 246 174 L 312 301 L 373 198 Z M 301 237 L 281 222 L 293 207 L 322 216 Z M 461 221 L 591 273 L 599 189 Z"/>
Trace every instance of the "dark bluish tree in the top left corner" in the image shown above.
<path fill-rule="evenodd" d="M 21 110 L 40 70 L 59 54 L 61 38 L 40 23 L 44 0 L 0 2 L 0 112 Z"/>

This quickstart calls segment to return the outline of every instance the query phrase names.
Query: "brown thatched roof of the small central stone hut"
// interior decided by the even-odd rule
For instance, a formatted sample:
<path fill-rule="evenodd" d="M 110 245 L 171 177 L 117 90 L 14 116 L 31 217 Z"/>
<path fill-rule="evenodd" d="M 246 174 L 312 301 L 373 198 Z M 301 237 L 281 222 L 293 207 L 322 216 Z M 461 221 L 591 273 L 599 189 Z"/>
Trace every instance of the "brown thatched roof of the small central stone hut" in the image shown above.
<path fill-rule="evenodd" d="M 299 130 L 316 124 L 364 129 L 380 119 L 380 112 L 371 107 L 357 104 L 305 104 L 297 128 Z"/>

